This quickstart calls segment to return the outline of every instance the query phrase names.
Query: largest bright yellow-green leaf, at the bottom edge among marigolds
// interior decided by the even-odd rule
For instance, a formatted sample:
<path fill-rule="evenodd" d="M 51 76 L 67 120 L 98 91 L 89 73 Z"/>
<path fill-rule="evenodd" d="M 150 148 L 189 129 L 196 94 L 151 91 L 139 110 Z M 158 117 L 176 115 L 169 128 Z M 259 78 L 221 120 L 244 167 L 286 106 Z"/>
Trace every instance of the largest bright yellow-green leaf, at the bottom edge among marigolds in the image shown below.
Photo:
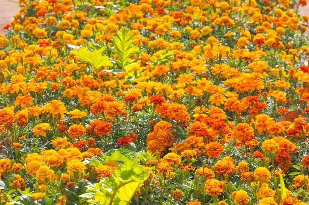
<path fill-rule="evenodd" d="M 99 183 L 88 186 L 87 193 L 80 195 L 102 205 L 127 205 L 133 198 L 135 191 L 142 186 L 149 173 L 144 171 L 144 166 L 138 165 L 138 159 L 128 159 L 119 151 L 106 160 L 123 162 L 114 171 L 110 178 L 104 178 Z"/>

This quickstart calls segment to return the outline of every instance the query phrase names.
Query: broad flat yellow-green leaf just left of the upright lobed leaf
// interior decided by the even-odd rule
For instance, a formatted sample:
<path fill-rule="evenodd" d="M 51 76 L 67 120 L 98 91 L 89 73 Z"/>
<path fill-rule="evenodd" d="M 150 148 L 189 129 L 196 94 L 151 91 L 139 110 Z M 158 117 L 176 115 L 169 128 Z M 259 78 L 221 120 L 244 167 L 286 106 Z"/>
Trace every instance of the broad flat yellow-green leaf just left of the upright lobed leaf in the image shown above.
<path fill-rule="evenodd" d="M 71 51 L 71 53 L 75 54 L 75 56 L 82 61 L 88 62 L 96 69 L 99 69 L 102 66 L 113 66 L 108 57 L 102 55 L 104 50 L 104 47 L 99 50 L 94 49 L 93 51 L 88 50 L 86 47 L 81 47 Z"/>

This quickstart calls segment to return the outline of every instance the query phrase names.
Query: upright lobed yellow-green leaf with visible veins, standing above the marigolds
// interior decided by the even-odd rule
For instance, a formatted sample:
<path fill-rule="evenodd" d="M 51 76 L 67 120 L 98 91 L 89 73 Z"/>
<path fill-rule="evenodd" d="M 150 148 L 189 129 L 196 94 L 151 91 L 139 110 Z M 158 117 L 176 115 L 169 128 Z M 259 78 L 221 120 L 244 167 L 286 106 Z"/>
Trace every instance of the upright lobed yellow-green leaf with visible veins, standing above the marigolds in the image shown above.
<path fill-rule="evenodd" d="M 133 62 L 130 57 L 139 50 L 138 47 L 133 46 L 132 36 L 133 34 L 130 34 L 128 29 L 122 29 L 122 31 L 118 31 L 116 36 L 112 39 L 115 53 L 119 57 L 117 64 L 122 69 L 125 69 L 126 65 Z"/>

